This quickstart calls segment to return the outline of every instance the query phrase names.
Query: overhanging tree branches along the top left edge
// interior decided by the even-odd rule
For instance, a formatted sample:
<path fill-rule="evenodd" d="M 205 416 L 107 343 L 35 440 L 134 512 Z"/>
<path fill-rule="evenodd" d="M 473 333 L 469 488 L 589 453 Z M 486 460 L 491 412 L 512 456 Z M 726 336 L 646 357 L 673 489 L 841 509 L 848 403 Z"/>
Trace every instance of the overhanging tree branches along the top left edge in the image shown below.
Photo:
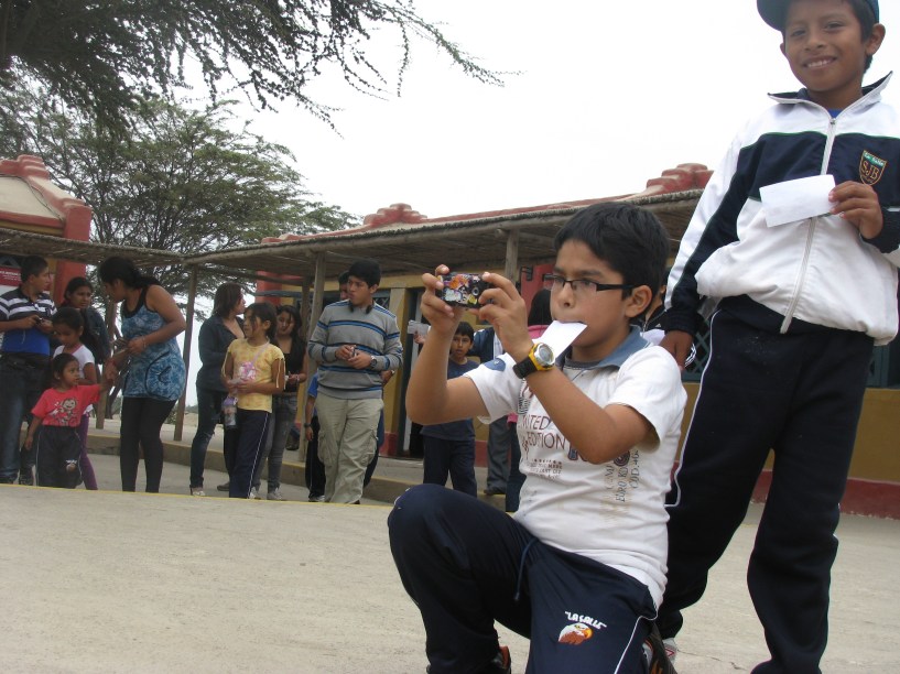
<path fill-rule="evenodd" d="M 421 18 L 411 0 L 0 0 L 0 85 L 23 76 L 119 126 L 149 93 L 184 84 L 197 63 L 213 97 L 237 85 L 262 107 L 288 98 L 328 119 L 307 84 L 335 64 L 348 84 L 380 93 L 387 80 L 367 54 L 376 31 L 399 36 L 400 77 L 413 39 L 435 44 L 481 81 L 497 75 Z"/>

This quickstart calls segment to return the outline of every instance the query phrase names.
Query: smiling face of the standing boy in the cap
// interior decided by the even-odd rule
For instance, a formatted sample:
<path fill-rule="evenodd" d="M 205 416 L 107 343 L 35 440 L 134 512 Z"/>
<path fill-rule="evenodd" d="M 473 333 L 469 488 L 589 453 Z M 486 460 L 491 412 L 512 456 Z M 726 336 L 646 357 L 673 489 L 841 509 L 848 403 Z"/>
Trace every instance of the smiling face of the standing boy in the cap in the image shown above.
<path fill-rule="evenodd" d="M 866 58 L 883 37 L 885 28 L 876 24 L 864 41 L 859 19 L 845 0 L 793 0 L 781 52 L 814 102 L 843 110 L 861 97 Z"/>

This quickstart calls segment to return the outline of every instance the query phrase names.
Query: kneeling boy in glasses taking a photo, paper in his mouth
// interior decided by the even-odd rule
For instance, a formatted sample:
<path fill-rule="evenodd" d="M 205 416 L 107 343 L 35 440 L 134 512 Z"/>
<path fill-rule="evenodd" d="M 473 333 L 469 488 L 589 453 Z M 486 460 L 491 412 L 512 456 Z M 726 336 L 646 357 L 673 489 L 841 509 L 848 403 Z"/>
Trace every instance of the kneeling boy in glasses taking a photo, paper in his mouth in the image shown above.
<path fill-rule="evenodd" d="M 485 274 L 492 287 L 479 318 L 506 352 L 455 379 L 446 354 L 465 309 L 423 276 L 432 327 L 406 392 L 410 417 L 517 412 L 528 457 L 513 518 L 435 485 L 394 502 L 391 553 L 422 613 L 432 674 L 509 672 L 495 621 L 531 638 L 529 672 L 671 672 L 662 643 L 643 644 L 665 584 L 664 497 L 686 395 L 669 355 L 631 325 L 662 283 L 669 238 L 649 211 L 597 204 L 554 243 L 554 323 L 532 341 L 512 281 Z"/>

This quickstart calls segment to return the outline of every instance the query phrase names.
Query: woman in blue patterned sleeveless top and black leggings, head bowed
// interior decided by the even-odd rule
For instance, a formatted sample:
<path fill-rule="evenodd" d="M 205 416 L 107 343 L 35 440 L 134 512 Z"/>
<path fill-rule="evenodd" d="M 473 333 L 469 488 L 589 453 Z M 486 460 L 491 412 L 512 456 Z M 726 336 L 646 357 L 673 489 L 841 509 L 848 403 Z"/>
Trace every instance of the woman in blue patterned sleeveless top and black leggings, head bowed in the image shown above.
<path fill-rule="evenodd" d="M 128 363 L 122 383 L 119 463 L 122 491 L 134 491 L 139 446 L 143 448 L 147 491 L 158 492 L 163 470 L 160 431 L 184 391 L 186 372 L 175 337 L 186 326 L 175 300 L 153 276 L 126 258 L 111 257 L 99 268 L 106 294 L 121 303 L 126 346 L 107 361 L 116 377 Z"/>

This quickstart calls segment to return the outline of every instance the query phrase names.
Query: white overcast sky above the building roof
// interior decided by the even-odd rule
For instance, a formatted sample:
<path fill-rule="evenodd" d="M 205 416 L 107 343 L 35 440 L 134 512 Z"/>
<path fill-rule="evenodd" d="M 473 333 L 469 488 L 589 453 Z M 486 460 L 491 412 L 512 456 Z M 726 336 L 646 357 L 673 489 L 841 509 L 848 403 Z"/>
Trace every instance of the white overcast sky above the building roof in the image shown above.
<path fill-rule="evenodd" d="M 867 81 L 900 63 L 900 3 L 881 4 L 887 39 Z M 359 216 L 397 202 L 438 217 L 639 192 L 679 163 L 715 167 L 767 93 L 799 87 L 753 0 L 415 6 L 482 65 L 520 74 L 482 85 L 419 42 L 400 98 L 314 84 L 315 100 L 344 109 L 340 135 L 292 106 L 250 112 L 310 189 Z M 386 75 L 397 43 L 373 35 Z M 900 105 L 900 80 L 886 97 Z"/>

